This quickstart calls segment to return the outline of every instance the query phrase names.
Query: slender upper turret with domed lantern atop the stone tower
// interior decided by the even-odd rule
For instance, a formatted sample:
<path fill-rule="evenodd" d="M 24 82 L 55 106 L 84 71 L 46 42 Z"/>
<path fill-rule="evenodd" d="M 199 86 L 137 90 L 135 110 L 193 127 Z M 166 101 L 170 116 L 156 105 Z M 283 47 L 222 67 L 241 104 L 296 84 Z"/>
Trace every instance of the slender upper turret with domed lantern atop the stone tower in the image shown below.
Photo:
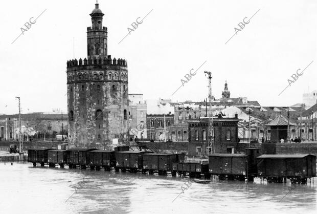
<path fill-rule="evenodd" d="M 87 28 L 87 55 L 89 57 L 104 58 L 107 56 L 107 28 L 102 26 L 103 13 L 99 4 L 89 14 L 92 17 L 92 27 Z"/>

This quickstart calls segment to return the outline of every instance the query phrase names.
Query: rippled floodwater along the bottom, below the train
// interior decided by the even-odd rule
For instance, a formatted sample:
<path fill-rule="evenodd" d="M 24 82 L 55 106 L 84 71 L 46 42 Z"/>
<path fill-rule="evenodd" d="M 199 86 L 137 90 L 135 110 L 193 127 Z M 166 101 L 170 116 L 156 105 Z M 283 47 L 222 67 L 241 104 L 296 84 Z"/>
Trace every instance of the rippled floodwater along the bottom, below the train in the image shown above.
<path fill-rule="evenodd" d="M 183 193 L 186 181 L 191 186 Z M 171 176 L 0 163 L 0 213 L 317 213 L 316 198 L 316 178 L 306 185 L 260 179 L 198 184 Z"/>

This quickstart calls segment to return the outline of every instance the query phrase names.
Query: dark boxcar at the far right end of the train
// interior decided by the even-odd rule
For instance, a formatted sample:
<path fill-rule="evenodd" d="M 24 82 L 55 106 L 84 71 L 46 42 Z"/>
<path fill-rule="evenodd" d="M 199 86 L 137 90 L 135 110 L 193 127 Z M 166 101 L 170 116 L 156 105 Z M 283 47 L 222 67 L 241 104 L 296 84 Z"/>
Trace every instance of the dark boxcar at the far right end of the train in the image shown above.
<path fill-rule="evenodd" d="M 296 155 L 261 155 L 258 159 L 258 177 L 268 182 L 306 183 L 307 178 L 316 177 L 316 156 Z"/>

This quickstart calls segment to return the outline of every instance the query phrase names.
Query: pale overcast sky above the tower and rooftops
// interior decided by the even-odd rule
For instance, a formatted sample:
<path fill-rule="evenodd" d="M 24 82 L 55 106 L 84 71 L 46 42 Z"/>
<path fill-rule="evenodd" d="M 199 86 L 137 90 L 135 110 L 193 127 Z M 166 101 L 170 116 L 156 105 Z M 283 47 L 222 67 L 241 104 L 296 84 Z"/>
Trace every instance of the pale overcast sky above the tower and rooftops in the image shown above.
<path fill-rule="evenodd" d="M 212 72 L 216 98 L 221 97 L 227 80 L 231 97 L 245 96 L 263 106 L 302 102 L 308 87 L 309 91 L 317 89 L 316 1 L 98 2 L 108 28 L 108 54 L 128 61 L 129 94 L 144 94 L 145 99 L 201 101 L 208 97 L 203 71 Z M 53 108 L 67 111 L 66 61 L 74 58 L 73 41 L 75 58 L 87 57 L 86 28 L 91 26 L 89 13 L 95 3 L 1 2 L 0 114 L 17 113 L 15 96 L 21 97 L 22 113 L 50 112 Z M 118 44 L 131 23 L 146 14 L 144 22 Z M 14 41 L 21 34 L 20 28 L 38 15 L 36 23 Z M 235 28 L 240 29 L 238 24 L 251 17 L 234 35 Z M 172 96 L 181 79 L 205 61 Z M 292 80 L 291 75 L 312 61 L 278 96 L 287 87 L 287 80 Z"/>

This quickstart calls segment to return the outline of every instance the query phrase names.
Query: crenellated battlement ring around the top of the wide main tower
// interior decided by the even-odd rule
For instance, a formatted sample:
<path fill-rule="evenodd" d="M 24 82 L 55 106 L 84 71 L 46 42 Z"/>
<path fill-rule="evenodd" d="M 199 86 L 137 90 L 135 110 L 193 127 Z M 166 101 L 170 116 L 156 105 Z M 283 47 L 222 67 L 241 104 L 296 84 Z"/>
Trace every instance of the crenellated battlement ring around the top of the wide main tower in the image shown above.
<path fill-rule="evenodd" d="M 67 71 L 74 71 L 74 70 L 81 70 L 86 69 L 87 67 L 91 66 L 98 66 L 98 68 L 106 68 L 109 69 L 120 69 L 120 67 L 127 68 L 127 61 L 125 59 L 111 59 L 111 55 L 108 55 L 108 57 L 99 57 L 98 59 L 96 57 L 89 57 L 88 59 L 84 58 L 82 60 L 81 58 L 79 60 L 72 59 L 68 60 L 66 62 L 67 65 Z"/>

